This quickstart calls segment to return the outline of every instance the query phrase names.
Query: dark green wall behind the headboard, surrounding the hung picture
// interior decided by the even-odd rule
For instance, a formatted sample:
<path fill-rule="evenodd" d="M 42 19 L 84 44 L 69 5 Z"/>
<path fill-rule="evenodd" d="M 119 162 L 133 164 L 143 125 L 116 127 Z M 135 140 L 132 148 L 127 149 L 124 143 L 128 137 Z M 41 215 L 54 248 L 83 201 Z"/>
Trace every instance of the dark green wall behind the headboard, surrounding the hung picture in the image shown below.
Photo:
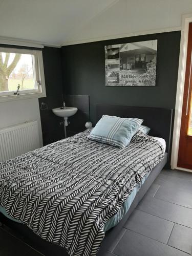
<path fill-rule="evenodd" d="M 90 95 L 91 120 L 97 103 L 175 108 L 180 31 L 62 47 L 65 94 Z M 156 87 L 105 87 L 104 46 L 158 39 Z"/>

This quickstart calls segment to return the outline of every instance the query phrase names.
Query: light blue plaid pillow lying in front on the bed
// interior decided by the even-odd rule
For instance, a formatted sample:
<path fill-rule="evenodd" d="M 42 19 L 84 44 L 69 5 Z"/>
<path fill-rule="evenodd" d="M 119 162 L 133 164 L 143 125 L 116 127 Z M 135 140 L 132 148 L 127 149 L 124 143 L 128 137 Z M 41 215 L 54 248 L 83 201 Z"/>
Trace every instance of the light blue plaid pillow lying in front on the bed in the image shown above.
<path fill-rule="evenodd" d="M 88 139 L 124 148 L 130 143 L 142 122 L 139 118 L 103 115 L 88 135 Z"/>

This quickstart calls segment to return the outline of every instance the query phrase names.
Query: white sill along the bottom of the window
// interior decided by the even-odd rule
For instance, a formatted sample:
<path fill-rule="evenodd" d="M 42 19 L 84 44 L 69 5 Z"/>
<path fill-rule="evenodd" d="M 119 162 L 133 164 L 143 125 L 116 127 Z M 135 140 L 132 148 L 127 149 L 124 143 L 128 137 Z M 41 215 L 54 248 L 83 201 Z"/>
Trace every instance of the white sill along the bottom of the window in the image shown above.
<path fill-rule="evenodd" d="M 10 96 L 0 96 L 0 102 L 13 101 L 13 100 L 22 100 L 22 99 L 31 99 L 31 98 L 43 98 L 46 97 L 46 92 L 38 93 L 26 93 L 19 95 L 10 95 Z"/>

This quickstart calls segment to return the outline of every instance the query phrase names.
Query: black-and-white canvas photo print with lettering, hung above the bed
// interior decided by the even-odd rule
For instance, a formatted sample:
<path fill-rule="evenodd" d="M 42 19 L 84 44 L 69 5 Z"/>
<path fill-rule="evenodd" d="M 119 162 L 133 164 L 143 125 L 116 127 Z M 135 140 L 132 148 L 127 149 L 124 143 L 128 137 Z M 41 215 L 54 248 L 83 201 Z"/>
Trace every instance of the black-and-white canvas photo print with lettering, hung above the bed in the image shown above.
<path fill-rule="evenodd" d="M 157 40 L 105 46 L 105 86 L 155 86 Z"/>

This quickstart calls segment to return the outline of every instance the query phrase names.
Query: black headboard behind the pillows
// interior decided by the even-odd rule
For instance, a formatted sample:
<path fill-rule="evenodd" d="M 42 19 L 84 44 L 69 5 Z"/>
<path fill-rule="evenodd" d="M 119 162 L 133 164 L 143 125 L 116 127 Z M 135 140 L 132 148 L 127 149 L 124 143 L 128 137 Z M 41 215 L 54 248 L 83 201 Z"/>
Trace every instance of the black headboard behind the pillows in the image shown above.
<path fill-rule="evenodd" d="M 151 128 L 149 135 L 163 138 L 166 141 L 166 152 L 170 157 L 173 109 L 97 104 L 96 112 L 97 121 L 102 115 L 143 119 L 142 124 Z"/>

